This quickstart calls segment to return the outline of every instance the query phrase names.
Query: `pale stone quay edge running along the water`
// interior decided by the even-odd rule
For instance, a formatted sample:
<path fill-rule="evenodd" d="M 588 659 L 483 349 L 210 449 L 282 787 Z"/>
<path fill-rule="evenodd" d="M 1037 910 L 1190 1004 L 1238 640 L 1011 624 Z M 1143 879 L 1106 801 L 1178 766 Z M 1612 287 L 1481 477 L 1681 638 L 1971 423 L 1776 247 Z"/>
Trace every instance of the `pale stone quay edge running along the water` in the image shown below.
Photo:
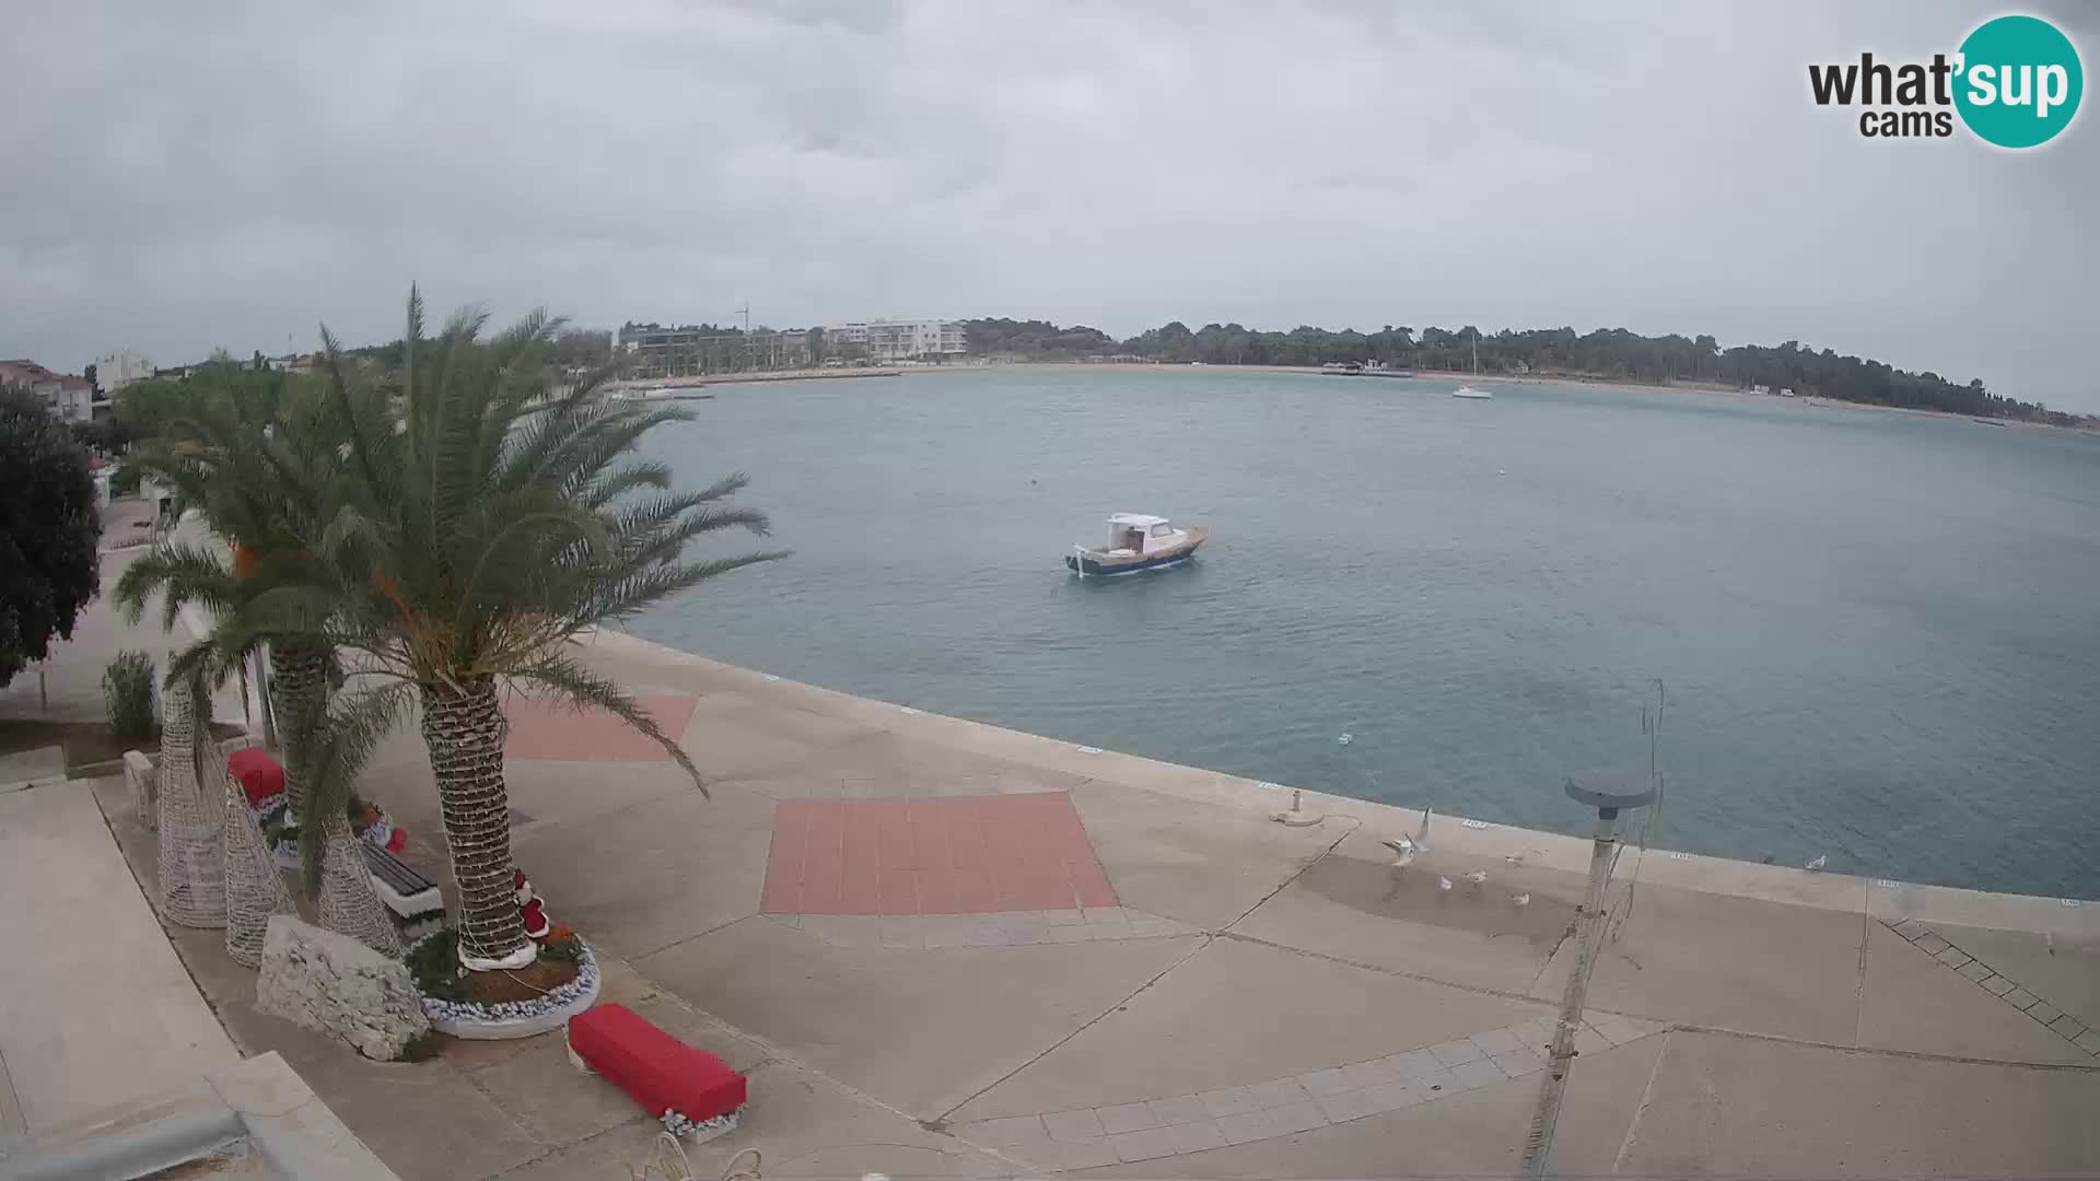
<path fill-rule="evenodd" d="M 741 691 L 754 698 L 771 698 L 785 708 L 850 719 L 865 725 L 880 725 L 882 729 L 899 731 L 901 735 L 916 740 L 998 754 L 1002 759 L 1012 759 L 1016 763 L 1050 771 L 1079 773 L 1094 782 L 1140 786 L 1144 790 L 1172 794 L 1189 803 L 1268 817 L 1287 809 L 1292 805 L 1292 792 L 1296 790 L 1300 792 L 1306 811 L 1327 813 L 1338 820 L 1354 820 L 1359 826 L 1376 828 L 1380 832 L 1411 832 L 1422 822 L 1422 811 L 1413 807 L 1331 794 L 1315 788 L 1294 788 L 1289 784 L 1254 782 L 1224 771 L 1082 746 L 1060 738 L 1046 738 L 972 719 L 926 712 L 876 698 L 859 698 L 838 689 L 806 685 L 771 672 L 727 664 L 624 630 L 598 628 L 582 643 L 586 647 L 603 645 L 603 649 L 613 649 L 607 651 L 607 656 L 613 658 L 653 656 L 668 658 L 678 664 L 699 666 L 714 675 L 731 677 L 741 683 Z M 1529 857 L 1535 866 L 1567 870 L 1573 874 L 1586 874 L 1590 864 L 1590 841 L 1586 836 L 1470 820 L 1457 813 L 1436 813 L 1436 843 L 1438 847 L 1455 847 L 1483 857 Z M 1770 866 L 1737 857 L 1682 853 L 1674 849 L 1651 849 L 1651 853 L 1655 855 L 1640 859 L 1638 880 L 1695 889 L 1701 893 L 1749 897 L 1758 902 L 1867 914 L 1890 925 L 1900 923 L 1903 918 L 1917 918 L 1922 923 L 1957 923 L 1970 927 L 1995 927 L 2001 931 L 2100 937 L 2100 899 L 2064 899 L 1945 887 L 1932 883 L 1898 883 L 1890 878 L 1810 872 L 1791 866 Z M 1640 851 L 1638 847 L 1625 845 L 1623 855 L 1640 857 Z M 1632 874 L 1636 870 L 1625 872 Z M 1613 880 L 1617 889 L 1621 878 L 1615 876 Z"/>

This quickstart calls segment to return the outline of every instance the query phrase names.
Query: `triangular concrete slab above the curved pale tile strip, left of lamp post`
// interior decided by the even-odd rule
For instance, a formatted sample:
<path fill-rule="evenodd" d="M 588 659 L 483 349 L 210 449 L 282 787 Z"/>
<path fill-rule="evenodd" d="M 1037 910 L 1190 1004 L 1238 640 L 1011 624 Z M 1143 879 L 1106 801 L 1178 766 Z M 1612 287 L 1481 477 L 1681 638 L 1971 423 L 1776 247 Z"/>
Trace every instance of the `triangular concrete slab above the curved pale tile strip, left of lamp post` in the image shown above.
<path fill-rule="evenodd" d="M 1082 944 L 1084 946 L 1084 944 Z M 981 1120 L 1197 1095 L 1331 1072 L 1544 1013 L 1544 1004 L 1218 939 L 956 1118 Z M 1308 1099 L 1321 1093 L 1300 1078 Z"/>

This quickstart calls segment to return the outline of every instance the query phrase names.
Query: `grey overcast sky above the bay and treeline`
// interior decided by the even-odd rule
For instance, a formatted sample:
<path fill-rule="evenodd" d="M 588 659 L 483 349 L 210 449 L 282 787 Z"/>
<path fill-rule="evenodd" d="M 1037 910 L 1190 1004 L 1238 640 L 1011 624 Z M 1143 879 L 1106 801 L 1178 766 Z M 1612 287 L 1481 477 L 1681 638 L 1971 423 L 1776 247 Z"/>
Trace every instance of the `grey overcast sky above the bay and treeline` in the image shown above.
<path fill-rule="evenodd" d="M 1867 141 L 1810 61 L 1999 4 L 38 4 L 0 355 L 439 307 L 1835 347 L 2100 412 L 2100 126 Z M 2100 8 L 2041 4 L 2094 69 Z"/>

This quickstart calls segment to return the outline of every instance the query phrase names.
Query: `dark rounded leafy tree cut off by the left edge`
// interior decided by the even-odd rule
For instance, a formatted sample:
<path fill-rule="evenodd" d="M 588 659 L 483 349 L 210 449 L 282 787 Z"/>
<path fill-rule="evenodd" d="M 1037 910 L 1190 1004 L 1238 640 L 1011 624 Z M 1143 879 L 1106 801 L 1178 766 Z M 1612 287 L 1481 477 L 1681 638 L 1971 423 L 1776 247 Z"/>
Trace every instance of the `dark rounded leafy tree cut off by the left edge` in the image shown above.
<path fill-rule="evenodd" d="M 71 639 L 101 588 L 88 452 L 25 391 L 0 391 L 0 685 Z"/>

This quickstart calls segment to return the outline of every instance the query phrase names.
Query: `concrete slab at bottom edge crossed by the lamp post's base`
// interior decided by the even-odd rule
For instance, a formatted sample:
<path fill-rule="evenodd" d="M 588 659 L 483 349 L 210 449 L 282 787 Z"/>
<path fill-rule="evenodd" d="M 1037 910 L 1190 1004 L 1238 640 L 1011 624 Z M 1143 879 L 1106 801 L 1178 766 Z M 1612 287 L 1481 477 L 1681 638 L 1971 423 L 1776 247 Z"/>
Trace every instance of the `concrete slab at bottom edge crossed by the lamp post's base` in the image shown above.
<path fill-rule="evenodd" d="M 1556 1177 L 1600 1177 L 1640 1103 L 1661 1038 L 1583 1055 L 1569 1076 Z M 1119 1164 L 1082 1177 L 1514 1177 L 1537 1103 L 1537 1076 L 1411 1103 L 1298 1135 L 1193 1156 Z"/>

